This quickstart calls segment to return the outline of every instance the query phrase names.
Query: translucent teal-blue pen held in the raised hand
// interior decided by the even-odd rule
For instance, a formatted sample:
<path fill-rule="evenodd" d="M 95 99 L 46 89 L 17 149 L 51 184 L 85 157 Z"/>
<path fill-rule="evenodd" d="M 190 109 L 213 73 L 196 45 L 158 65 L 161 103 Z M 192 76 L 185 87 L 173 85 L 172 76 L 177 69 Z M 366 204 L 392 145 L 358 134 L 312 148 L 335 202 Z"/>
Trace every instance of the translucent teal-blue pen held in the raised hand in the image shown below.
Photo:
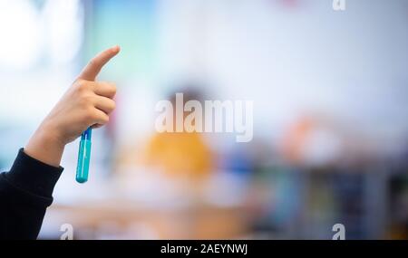
<path fill-rule="evenodd" d="M 81 135 L 75 178 L 76 181 L 81 184 L 88 181 L 89 163 L 91 159 L 91 136 L 91 128 L 86 129 Z"/>

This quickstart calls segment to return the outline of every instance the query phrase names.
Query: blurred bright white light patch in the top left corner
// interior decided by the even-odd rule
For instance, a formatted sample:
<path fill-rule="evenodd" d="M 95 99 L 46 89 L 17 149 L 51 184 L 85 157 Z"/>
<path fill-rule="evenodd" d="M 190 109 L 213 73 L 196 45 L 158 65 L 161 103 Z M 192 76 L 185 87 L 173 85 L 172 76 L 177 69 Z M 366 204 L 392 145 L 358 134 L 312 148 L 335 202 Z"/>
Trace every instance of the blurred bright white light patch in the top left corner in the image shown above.
<path fill-rule="evenodd" d="M 0 0 L 0 65 L 24 69 L 40 54 L 38 12 L 27 0 Z"/>

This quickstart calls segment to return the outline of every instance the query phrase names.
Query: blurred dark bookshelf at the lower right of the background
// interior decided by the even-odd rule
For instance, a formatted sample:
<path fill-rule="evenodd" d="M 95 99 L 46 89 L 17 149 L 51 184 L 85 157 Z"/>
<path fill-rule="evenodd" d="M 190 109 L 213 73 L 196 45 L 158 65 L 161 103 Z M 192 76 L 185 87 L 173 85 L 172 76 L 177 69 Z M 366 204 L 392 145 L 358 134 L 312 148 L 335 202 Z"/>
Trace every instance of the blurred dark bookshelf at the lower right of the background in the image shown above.
<path fill-rule="evenodd" d="M 408 166 L 384 165 L 258 168 L 269 207 L 254 219 L 254 234 L 331 239 L 332 226 L 343 224 L 346 239 L 407 239 Z"/>

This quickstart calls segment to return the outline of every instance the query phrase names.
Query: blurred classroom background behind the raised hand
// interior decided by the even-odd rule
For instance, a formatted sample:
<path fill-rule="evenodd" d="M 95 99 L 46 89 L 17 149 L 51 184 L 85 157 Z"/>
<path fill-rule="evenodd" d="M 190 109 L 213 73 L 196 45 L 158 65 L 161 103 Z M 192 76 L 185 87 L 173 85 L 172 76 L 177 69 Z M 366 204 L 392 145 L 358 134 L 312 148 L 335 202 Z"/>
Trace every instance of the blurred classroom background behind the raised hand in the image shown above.
<path fill-rule="evenodd" d="M 121 45 L 118 86 L 95 130 L 90 180 L 78 141 L 40 238 L 408 238 L 408 2 L 0 0 L 0 167 L 86 62 Z M 253 100 L 254 139 L 158 134 L 176 91 Z M 0 211 L 1 212 L 1 211 Z"/>

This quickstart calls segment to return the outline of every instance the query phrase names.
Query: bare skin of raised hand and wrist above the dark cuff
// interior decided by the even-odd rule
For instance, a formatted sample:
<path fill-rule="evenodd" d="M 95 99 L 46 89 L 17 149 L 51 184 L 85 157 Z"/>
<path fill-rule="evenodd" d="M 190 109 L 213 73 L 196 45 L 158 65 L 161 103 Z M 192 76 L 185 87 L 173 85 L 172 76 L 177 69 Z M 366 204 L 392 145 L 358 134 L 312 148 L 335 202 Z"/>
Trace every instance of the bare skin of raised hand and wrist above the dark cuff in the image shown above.
<path fill-rule="evenodd" d="M 99 128 L 109 121 L 115 109 L 113 83 L 95 81 L 103 65 L 120 52 L 114 46 L 96 55 L 83 69 L 63 98 L 43 120 L 24 148 L 32 158 L 53 167 L 60 166 L 66 144 L 77 139 L 85 129 Z"/>

